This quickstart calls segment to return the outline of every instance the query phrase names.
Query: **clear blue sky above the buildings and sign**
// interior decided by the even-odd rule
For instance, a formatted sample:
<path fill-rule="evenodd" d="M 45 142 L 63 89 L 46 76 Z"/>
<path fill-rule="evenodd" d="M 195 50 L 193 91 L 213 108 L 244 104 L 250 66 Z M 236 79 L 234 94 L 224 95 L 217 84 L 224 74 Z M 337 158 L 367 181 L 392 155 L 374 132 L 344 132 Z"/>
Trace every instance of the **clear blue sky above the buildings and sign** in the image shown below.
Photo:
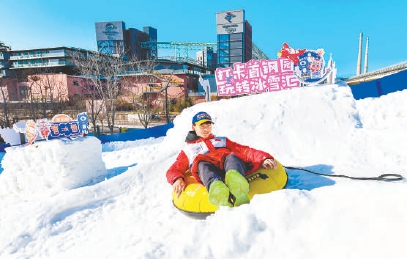
<path fill-rule="evenodd" d="M 284 42 L 323 48 L 326 60 L 332 54 L 338 76 L 352 76 L 363 33 L 363 58 L 369 37 L 368 71 L 407 61 L 407 52 L 397 51 L 407 46 L 405 0 L 2 0 L 0 41 L 14 50 L 95 50 L 95 22 L 124 21 L 126 28 L 156 28 L 162 42 L 215 43 L 216 13 L 239 9 L 253 27 L 253 42 L 270 59 Z"/>

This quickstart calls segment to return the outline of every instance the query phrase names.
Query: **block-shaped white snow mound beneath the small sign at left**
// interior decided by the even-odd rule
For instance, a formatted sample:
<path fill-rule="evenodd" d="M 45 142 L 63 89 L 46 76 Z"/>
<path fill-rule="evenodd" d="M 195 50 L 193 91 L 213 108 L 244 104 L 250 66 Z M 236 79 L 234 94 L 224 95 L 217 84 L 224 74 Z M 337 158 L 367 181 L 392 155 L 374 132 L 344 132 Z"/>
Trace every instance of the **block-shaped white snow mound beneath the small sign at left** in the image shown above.
<path fill-rule="evenodd" d="M 107 174 L 102 144 L 95 137 L 57 139 L 6 148 L 0 195 L 54 195 Z"/>

